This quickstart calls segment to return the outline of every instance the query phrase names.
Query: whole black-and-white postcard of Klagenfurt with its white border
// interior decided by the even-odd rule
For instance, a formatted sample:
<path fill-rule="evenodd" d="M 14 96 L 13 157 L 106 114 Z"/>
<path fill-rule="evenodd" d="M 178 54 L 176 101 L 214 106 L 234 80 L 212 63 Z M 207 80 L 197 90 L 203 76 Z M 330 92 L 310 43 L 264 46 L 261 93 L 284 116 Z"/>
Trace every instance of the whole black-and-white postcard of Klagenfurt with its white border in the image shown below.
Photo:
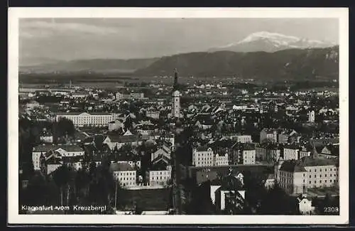
<path fill-rule="evenodd" d="M 347 14 L 10 9 L 9 222 L 346 224 Z"/>

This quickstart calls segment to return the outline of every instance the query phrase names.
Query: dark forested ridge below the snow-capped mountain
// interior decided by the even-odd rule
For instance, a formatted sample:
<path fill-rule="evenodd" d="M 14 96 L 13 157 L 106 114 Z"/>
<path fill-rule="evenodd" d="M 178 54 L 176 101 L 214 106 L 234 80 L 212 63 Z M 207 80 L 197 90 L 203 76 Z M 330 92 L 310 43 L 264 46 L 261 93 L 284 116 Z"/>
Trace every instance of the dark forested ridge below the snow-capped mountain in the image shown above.
<path fill-rule="evenodd" d="M 280 50 L 275 53 L 218 51 L 185 53 L 160 58 L 135 75 L 253 78 L 255 80 L 315 78 L 338 79 L 339 46 Z"/>

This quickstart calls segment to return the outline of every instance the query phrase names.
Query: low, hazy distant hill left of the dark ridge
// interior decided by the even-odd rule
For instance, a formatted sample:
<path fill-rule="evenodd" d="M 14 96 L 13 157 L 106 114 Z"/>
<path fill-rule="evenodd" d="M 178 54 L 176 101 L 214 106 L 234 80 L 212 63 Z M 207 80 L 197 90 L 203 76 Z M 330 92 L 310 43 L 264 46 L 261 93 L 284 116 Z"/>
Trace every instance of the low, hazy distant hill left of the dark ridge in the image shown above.
<path fill-rule="evenodd" d="M 57 61 L 40 65 L 20 66 L 21 72 L 133 72 L 139 68 L 146 68 L 158 58 L 140 59 L 91 59 Z"/>

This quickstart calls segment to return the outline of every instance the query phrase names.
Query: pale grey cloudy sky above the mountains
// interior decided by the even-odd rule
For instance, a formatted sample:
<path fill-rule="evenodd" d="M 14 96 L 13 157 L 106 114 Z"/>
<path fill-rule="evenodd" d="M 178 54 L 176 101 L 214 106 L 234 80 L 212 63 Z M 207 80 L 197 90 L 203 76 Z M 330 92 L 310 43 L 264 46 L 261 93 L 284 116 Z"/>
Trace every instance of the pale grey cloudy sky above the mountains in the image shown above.
<path fill-rule="evenodd" d="M 205 51 L 268 31 L 339 43 L 334 18 L 21 18 L 20 65 Z"/>

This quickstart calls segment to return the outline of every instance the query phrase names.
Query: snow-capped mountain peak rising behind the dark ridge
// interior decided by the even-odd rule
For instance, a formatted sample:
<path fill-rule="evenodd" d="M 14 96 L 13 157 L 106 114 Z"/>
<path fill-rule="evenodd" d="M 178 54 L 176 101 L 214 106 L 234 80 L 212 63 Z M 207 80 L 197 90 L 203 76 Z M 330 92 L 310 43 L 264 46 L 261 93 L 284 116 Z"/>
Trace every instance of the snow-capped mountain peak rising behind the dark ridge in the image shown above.
<path fill-rule="evenodd" d="M 280 33 L 261 31 L 252 33 L 237 43 L 209 49 L 209 52 L 229 50 L 235 52 L 275 52 L 290 48 L 327 48 L 337 45 L 327 41 L 316 41 L 295 36 L 285 36 Z"/>

